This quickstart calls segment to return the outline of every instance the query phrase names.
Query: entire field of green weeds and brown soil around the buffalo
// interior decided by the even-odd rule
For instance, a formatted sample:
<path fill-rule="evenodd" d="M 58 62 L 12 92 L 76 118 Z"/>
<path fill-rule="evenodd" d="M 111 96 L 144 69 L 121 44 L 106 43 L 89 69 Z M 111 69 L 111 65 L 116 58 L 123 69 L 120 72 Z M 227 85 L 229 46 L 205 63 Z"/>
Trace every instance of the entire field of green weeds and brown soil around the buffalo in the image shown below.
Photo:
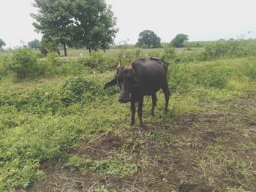
<path fill-rule="evenodd" d="M 47 72 L 23 80 L 2 58 L 0 191 L 256 191 L 256 57 L 181 61 L 177 53 L 168 60 L 169 113 L 157 93 L 151 118 L 146 97 L 141 132 L 137 117 L 129 126 L 118 89 L 102 87 L 118 57 L 151 51 L 166 55 L 50 55 L 39 64 Z"/>

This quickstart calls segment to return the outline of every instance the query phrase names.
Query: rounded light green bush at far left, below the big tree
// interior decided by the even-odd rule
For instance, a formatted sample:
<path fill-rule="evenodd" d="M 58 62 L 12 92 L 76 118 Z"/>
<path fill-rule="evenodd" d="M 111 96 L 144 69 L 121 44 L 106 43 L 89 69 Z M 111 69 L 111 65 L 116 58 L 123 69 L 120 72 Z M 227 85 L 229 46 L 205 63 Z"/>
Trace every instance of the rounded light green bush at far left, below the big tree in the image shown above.
<path fill-rule="evenodd" d="M 13 51 L 10 62 L 6 66 L 7 69 L 15 72 L 19 79 L 35 77 L 39 72 L 36 56 L 26 47 Z"/>

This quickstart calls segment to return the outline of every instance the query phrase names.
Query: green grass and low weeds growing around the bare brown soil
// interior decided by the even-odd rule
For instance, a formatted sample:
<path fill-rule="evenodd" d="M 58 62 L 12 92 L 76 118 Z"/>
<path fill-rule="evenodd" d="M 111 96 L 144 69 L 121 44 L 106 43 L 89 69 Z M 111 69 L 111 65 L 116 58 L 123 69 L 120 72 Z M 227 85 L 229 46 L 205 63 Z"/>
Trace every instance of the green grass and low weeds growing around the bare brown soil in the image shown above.
<path fill-rule="evenodd" d="M 105 54 L 112 52 L 116 54 L 119 50 L 110 50 Z M 69 50 L 70 56 L 78 53 L 79 50 Z M 148 117 L 151 98 L 146 97 L 143 107 L 145 123 L 151 128 L 158 124 L 173 130 L 176 128 L 170 121 L 173 118 L 188 112 L 214 110 L 221 102 L 246 96 L 256 88 L 255 61 L 252 57 L 170 64 L 170 113 L 164 115 L 165 99 L 163 93 L 158 93 L 156 117 Z M 11 73 L 1 77 L 0 191 L 14 191 L 20 186 L 26 188 L 43 176 L 40 165 L 48 161 L 66 162 L 74 170 L 88 166 L 91 171 L 103 174 L 127 176 L 138 172 L 138 165 L 125 151 L 99 161 L 69 157 L 69 150 L 78 147 L 81 140 L 89 141 L 102 132 L 121 135 L 138 127 L 138 123 L 135 128 L 129 126 L 129 104 L 118 104 L 116 88 L 102 91 L 104 83 L 113 76 L 113 71 L 95 73 L 88 67 L 78 66 L 76 61 L 57 64 L 54 69 L 59 73 L 50 79 L 42 76 L 34 80 L 16 80 Z M 0 64 L 0 70 L 1 67 L 3 64 Z M 76 78 L 77 74 L 80 78 Z M 72 86 L 65 89 L 65 82 L 70 80 L 77 82 L 74 86 L 78 86 L 77 89 L 82 92 L 78 94 Z M 67 97 L 70 99 L 68 103 L 64 100 Z M 165 145 L 169 139 L 176 139 L 161 131 L 149 131 L 143 136 L 143 139 L 147 138 L 159 146 Z M 197 145 L 196 140 L 186 141 Z M 176 142 L 182 143 L 184 140 L 179 138 Z M 255 148 L 253 141 L 244 145 Z M 148 150 L 146 142 L 140 141 L 139 146 L 141 150 Z M 245 161 L 227 161 L 227 155 L 219 154 L 222 149 L 223 145 L 209 146 L 209 152 L 198 161 L 199 168 L 206 174 L 209 174 L 208 166 L 222 171 L 225 167 L 216 165 L 217 161 L 222 161 L 225 166 L 238 166 L 241 171 L 246 170 Z M 146 162 L 146 158 L 140 159 L 139 164 Z"/>

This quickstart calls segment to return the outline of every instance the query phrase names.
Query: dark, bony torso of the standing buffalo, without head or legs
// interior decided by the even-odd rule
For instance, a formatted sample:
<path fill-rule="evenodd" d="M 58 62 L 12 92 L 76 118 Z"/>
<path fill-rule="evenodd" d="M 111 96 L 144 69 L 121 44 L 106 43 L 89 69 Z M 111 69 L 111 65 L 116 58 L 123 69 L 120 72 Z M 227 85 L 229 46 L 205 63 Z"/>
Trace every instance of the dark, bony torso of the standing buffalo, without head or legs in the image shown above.
<path fill-rule="evenodd" d="M 132 63 L 132 68 L 135 70 L 140 94 L 151 95 L 167 82 L 167 64 L 162 61 L 138 58 Z"/>

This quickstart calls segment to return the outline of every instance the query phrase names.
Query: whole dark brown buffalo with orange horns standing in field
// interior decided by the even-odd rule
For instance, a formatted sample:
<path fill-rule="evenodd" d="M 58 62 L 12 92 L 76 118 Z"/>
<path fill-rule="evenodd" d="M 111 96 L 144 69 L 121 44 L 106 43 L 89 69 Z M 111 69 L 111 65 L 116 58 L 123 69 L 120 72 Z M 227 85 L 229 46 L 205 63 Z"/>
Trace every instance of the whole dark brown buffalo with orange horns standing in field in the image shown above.
<path fill-rule="evenodd" d="M 156 92 L 162 88 L 165 93 L 165 112 L 168 110 L 170 91 L 167 83 L 168 64 L 159 58 L 138 58 L 129 66 L 121 66 L 119 59 L 116 75 L 113 80 L 106 83 L 104 89 L 118 85 L 121 91 L 119 102 L 131 102 L 131 125 L 135 123 L 135 103 L 138 101 L 138 117 L 140 127 L 145 128 L 142 121 L 143 97 L 152 97 L 151 115 L 157 104 Z"/>

